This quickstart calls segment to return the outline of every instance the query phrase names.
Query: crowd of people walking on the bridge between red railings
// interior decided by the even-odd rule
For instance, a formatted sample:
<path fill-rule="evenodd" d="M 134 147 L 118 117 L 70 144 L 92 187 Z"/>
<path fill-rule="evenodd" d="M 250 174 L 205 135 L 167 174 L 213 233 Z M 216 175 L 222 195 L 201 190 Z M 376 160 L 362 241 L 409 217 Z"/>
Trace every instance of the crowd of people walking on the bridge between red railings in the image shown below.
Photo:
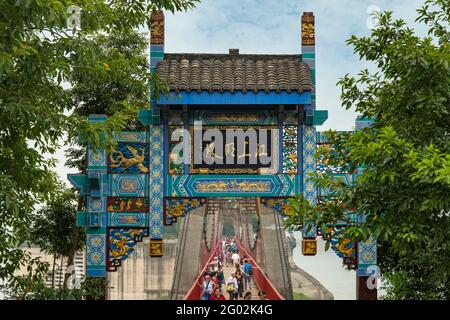
<path fill-rule="evenodd" d="M 232 268 L 225 279 L 224 265 Z M 253 265 L 249 257 L 241 255 L 234 238 L 223 239 L 219 252 L 203 274 L 203 300 L 252 300 Z M 258 297 L 266 300 L 265 292 Z"/>

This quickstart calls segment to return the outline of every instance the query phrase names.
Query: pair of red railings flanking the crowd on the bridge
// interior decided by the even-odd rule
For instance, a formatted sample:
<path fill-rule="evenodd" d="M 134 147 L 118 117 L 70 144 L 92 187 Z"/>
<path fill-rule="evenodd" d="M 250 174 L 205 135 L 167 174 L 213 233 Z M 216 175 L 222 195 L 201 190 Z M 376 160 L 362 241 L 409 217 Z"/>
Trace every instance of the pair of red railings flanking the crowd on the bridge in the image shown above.
<path fill-rule="evenodd" d="M 256 261 L 248 254 L 247 250 L 242 247 L 242 245 L 237 242 L 236 243 L 239 248 L 239 253 L 241 256 L 246 256 L 250 263 L 253 265 L 253 281 L 258 287 L 259 290 L 264 291 L 266 293 L 268 300 L 285 300 L 284 297 L 278 292 L 278 290 L 273 286 L 272 282 L 270 282 L 269 278 L 265 275 L 264 271 L 260 268 L 260 266 L 256 263 Z M 208 262 L 203 267 L 199 276 L 195 279 L 194 284 L 192 285 L 191 290 L 184 296 L 183 300 L 199 300 L 203 291 L 203 274 L 206 272 L 208 265 L 215 256 L 218 255 L 220 250 L 220 244 L 218 244 L 211 253 Z"/>

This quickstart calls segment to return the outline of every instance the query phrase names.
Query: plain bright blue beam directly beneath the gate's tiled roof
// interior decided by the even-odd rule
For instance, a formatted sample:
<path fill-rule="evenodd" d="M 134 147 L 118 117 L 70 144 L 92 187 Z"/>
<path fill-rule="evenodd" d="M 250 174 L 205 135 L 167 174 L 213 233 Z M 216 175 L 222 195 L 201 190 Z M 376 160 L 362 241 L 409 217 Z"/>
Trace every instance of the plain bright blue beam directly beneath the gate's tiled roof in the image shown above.
<path fill-rule="evenodd" d="M 272 104 L 311 104 L 311 92 L 171 92 L 161 96 L 159 105 L 272 105 Z"/>

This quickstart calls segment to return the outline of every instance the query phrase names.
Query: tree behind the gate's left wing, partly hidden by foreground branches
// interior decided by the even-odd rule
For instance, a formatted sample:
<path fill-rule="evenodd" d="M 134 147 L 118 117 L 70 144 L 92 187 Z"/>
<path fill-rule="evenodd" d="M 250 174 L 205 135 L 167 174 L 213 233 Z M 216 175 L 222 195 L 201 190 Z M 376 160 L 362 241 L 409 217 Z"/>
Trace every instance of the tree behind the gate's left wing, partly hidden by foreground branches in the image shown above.
<path fill-rule="evenodd" d="M 75 69 L 72 74 L 73 87 L 71 93 L 71 110 L 79 116 L 89 114 L 114 115 L 122 112 L 128 106 L 138 109 L 148 104 L 148 83 L 157 83 L 160 88 L 167 88 L 156 75 L 149 74 L 147 60 L 147 41 L 145 33 L 126 31 L 112 34 L 96 34 L 92 37 L 95 43 L 95 54 L 111 70 L 105 77 L 90 77 L 84 66 Z M 132 117 L 126 123 L 128 130 L 145 130 L 137 117 Z M 73 139 L 72 147 L 66 152 L 66 166 L 76 168 L 81 172 L 86 170 L 86 144 Z M 69 144 L 69 143 L 68 143 Z M 78 211 L 81 211 L 84 199 L 78 200 Z M 75 243 L 78 241 L 78 228 L 73 225 L 71 248 L 67 265 L 73 264 Z M 67 269 L 69 270 L 69 269 Z M 64 286 L 69 273 L 65 275 Z"/>

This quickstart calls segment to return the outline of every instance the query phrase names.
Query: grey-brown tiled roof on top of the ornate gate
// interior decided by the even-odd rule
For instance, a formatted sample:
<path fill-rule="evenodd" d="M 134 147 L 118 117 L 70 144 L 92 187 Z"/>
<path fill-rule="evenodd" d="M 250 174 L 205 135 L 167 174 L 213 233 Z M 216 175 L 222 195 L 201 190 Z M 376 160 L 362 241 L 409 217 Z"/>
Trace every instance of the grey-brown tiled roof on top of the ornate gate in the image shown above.
<path fill-rule="evenodd" d="M 301 55 L 168 53 L 156 66 L 158 75 L 179 91 L 311 91 L 311 71 Z"/>

